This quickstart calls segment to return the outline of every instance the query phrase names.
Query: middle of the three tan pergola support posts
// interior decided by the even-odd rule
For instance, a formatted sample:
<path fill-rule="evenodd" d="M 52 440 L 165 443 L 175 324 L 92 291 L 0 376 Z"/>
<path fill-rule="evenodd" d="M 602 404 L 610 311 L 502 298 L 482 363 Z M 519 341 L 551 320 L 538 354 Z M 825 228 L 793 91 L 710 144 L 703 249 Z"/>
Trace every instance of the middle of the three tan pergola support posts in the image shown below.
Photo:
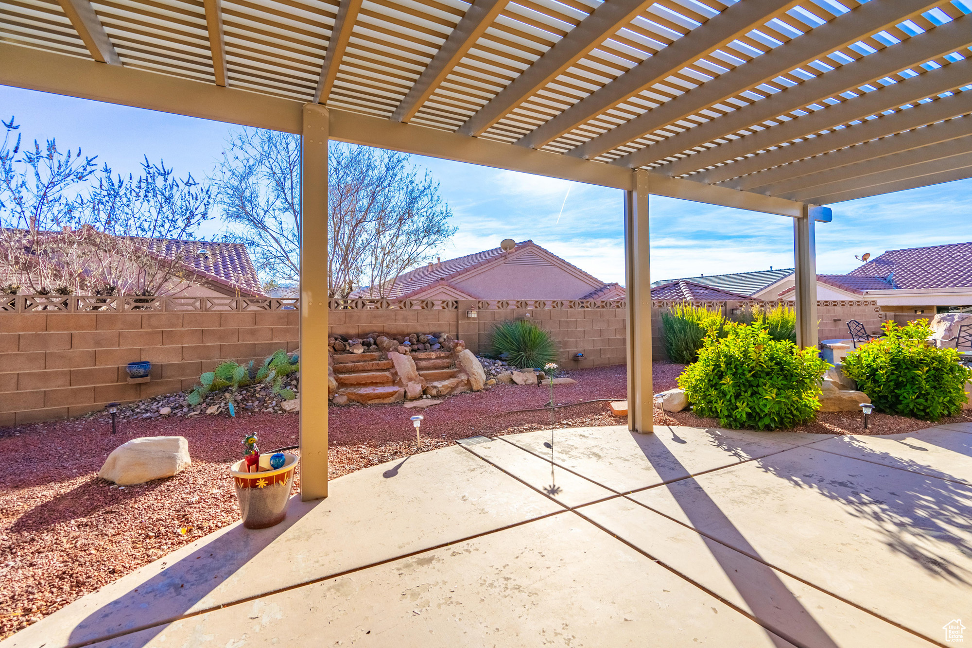
<path fill-rule="evenodd" d="M 651 387 L 651 278 L 648 270 L 648 172 L 634 171 L 624 202 L 625 273 L 628 293 L 628 429 L 654 431 Z"/>

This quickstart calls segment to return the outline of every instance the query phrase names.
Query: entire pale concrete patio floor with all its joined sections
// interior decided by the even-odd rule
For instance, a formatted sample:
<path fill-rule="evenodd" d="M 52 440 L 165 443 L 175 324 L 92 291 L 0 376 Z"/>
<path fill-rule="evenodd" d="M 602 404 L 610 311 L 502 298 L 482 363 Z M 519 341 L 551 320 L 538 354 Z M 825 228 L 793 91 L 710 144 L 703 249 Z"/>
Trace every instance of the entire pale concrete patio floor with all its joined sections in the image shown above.
<path fill-rule="evenodd" d="M 555 458 L 583 475 L 554 466 L 564 504 L 537 490 L 550 462 L 524 450 L 549 432 L 364 469 L 326 500 L 292 500 L 276 527 L 211 534 L 0 648 L 896 647 L 972 617 L 972 486 L 929 474 L 965 475 L 970 435 L 833 440 L 847 456 L 797 445 L 826 443 L 810 435 L 660 431 L 557 431 Z M 592 481 L 646 475 L 656 486 L 627 496 Z"/>

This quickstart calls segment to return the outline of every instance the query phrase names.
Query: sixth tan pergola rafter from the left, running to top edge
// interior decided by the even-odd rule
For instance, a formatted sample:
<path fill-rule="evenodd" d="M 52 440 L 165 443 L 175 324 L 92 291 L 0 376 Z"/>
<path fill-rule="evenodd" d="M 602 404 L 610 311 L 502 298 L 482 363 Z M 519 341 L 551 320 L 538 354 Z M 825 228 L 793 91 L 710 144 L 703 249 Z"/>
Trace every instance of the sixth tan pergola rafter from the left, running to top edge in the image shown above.
<path fill-rule="evenodd" d="M 600 90 L 584 97 L 516 143 L 541 148 L 564 133 L 602 115 L 625 99 L 650 89 L 700 57 L 731 43 L 765 22 L 770 15 L 795 4 L 793 0 L 746 0 L 726 8 L 672 45 L 649 56 Z"/>

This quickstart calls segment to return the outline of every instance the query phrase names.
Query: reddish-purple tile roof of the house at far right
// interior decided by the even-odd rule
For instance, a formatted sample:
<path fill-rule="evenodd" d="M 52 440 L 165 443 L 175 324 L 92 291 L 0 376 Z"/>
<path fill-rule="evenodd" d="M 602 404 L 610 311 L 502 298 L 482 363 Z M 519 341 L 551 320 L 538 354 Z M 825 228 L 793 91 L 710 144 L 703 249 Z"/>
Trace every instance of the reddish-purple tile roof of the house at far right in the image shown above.
<path fill-rule="evenodd" d="M 877 276 L 885 288 L 964 288 L 972 286 L 972 242 L 888 250 L 851 270 L 849 276 Z M 875 289 L 872 289 L 875 290 Z"/>

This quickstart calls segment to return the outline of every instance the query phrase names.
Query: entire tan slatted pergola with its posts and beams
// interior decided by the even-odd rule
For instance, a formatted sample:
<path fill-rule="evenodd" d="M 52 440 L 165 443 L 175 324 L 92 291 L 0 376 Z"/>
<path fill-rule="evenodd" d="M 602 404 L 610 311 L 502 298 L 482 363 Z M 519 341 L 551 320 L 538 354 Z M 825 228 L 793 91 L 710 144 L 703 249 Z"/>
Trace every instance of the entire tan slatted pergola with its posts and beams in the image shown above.
<path fill-rule="evenodd" d="M 792 218 L 798 342 L 815 346 L 820 205 L 972 175 L 970 12 L 970 0 L 5 0 L 0 83 L 301 135 L 313 499 L 328 494 L 329 140 L 625 191 L 629 426 L 650 432 L 648 196 Z"/>

